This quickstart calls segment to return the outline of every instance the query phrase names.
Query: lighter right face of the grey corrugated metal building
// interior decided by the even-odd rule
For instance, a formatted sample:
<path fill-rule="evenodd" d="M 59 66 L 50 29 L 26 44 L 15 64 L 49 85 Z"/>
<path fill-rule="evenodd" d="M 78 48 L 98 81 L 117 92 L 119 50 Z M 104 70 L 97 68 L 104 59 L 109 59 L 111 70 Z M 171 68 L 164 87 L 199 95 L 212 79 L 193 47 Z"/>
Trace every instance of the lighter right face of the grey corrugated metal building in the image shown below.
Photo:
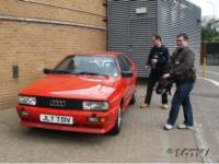
<path fill-rule="evenodd" d="M 189 47 L 196 54 L 196 68 L 200 56 L 200 9 L 185 0 L 159 0 L 159 34 L 173 52 L 180 33 L 189 36 Z"/>

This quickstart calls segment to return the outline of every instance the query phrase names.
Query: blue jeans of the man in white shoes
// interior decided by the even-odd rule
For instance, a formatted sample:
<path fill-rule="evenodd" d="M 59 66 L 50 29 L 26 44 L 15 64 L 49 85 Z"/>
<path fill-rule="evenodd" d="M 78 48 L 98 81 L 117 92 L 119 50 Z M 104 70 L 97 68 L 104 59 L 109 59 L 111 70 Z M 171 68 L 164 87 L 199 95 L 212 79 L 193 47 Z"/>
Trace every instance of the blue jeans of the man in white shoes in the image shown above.
<path fill-rule="evenodd" d="M 172 99 L 171 112 L 169 115 L 168 124 L 174 126 L 177 119 L 181 105 L 183 106 L 184 124 L 193 126 L 193 108 L 191 105 L 189 93 L 193 90 L 195 81 L 187 81 L 176 83 L 176 91 Z"/>

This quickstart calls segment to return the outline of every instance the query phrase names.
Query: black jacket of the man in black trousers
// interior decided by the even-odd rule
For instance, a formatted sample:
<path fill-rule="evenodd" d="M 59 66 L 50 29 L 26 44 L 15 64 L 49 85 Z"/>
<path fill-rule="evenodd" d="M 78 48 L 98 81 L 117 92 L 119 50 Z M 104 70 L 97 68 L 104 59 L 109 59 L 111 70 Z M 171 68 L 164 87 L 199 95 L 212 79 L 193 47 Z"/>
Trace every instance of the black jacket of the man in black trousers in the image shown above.
<path fill-rule="evenodd" d="M 169 50 L 164 45 L 162 45 L 159 48 L 152 47 L 150 49 L 149 58 L 146 65 L 152 67 L 151 59 L 158 59 L 158 63 L 155 68 L 153 69 L 158 71 L 162 71 L 166 69 L 169 57 L 170 57 Z"/>

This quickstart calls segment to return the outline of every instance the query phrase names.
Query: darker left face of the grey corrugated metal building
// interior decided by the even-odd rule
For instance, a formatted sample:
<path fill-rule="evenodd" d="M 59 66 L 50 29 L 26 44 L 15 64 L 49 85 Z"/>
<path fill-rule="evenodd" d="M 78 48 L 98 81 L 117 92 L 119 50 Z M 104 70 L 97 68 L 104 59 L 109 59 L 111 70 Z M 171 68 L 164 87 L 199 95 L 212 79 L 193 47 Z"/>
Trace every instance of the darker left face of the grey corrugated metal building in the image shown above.
<path fill-rule="evenodd" d="M 136 9 L 147 8 L 137 14 Z M 126 52 L 137 65 L 138 75 L 148 77 L 145 69 L 151 47 L 151 36 L 158 32 L 157 1 L 108 0 L 108 50 Z"/>

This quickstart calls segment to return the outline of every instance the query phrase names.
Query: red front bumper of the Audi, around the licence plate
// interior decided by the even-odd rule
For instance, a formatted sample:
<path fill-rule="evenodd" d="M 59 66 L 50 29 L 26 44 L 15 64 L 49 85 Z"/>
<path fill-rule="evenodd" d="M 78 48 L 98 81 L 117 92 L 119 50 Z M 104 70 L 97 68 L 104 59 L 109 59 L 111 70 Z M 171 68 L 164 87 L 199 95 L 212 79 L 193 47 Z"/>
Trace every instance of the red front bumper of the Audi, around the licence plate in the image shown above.
<path fill-rule="evenodd" d="M 87 110 L 70 110 L 70 109 L 53 109 L 33 106 L 18 105 L 16 110 L 21 118 L 21 125 L 25 127 L 35 127 L 53 130 L 89 132 L 89 133 L 106 133 L 115 125 L 117 109 L 111 108 L 107 112 L 87 112 Z M 21 115 L 25 112 L 27 115 Z M 69 116 L 73 117 L 73 125 L 59 125 L 42 122 L 39 115 L 55 115 L 55 116 Z M 100 121 L 92 122 L 88 118 L 96 117 Z"/>

